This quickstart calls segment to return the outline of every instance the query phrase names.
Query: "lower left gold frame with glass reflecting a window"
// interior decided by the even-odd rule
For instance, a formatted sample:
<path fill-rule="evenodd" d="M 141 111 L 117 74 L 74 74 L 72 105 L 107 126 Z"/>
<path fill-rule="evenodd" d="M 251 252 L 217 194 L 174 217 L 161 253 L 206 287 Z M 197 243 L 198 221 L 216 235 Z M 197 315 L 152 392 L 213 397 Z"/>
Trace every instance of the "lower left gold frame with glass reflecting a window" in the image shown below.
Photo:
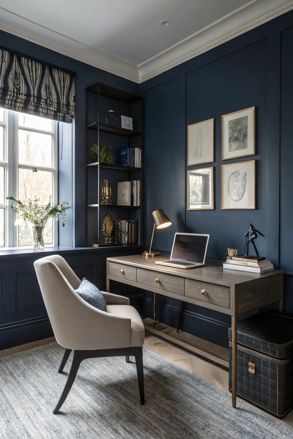
<path fill-rule="evenodd" d="M 187 210 L 214 209 L 213 166 L 187 171 Z"/>

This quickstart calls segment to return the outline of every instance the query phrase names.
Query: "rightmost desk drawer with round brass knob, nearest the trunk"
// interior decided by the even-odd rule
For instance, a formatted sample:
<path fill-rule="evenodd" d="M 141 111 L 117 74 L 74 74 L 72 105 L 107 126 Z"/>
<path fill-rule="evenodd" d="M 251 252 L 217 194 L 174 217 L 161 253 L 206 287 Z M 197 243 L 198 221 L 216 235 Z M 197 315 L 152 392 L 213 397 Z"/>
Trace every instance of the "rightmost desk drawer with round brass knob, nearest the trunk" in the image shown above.
<path fill-rule="evenodd" d="M 206 291 L 206 295 L 202 291 Z M 213 305 L 230 308 L 230 288 L 208 282 L 185 279 L 184 295 Z"/>

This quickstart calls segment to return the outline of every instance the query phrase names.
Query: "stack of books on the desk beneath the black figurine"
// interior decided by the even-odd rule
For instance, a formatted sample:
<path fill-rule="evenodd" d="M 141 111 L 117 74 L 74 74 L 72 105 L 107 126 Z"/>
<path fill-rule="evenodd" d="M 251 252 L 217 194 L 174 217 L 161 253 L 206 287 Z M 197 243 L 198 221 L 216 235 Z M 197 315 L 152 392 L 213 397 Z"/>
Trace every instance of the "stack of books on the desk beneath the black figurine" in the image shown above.
<path fill-rule="evenodd" d="M 242 256 L 228 256 L 223 268 L 228 270 L 248 271 L 250 273 L 265 273 L 274 270 L 274 266 L 265 258 L 244 258 Z"/>

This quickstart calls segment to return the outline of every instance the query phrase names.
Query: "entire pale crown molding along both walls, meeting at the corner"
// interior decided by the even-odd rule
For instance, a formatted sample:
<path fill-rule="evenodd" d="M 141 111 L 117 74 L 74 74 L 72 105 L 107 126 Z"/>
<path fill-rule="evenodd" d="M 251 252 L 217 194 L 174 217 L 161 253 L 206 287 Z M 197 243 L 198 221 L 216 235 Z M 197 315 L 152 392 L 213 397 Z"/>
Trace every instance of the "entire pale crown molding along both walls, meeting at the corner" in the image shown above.
<path fill-rule="evenodd" d="M 293 9 L 293 0 L 250 0 L 242 7 L 232 11 L 217 22 L 180 41 L 138 66 L 94 47 L 72 40 L 51 29 L 43 28 L 17 16 L 18 20 L 29 22 L 31 32 L 20 29 L 21 26 L 0 22 L 0 29 L 24 40 L 46 47 L 69 58 L 100 68 L 135 83 L 142 83 L 191 58 L 219 46 L 269 20 Z M 15 15 L 3 10 L 2 17 Z M 2 18 L 2 20 L 3 20 Z M 11 22 L 7 19 L 7 22 Z M 20 23 L 21 23 L 20 22 Z M 42 37 L 37 36 L 42 29 Z"/>

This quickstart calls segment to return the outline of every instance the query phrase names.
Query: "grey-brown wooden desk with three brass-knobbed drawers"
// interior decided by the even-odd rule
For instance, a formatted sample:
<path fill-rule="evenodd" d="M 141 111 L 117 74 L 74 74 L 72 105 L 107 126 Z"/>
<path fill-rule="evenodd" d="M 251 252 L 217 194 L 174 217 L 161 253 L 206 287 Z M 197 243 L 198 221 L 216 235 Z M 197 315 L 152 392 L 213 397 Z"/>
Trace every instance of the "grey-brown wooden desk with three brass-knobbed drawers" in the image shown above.
<path fill-rule="evenodd" d="M 206 258 L 205 266 L 183 270 L 156 265 L 166 257 L 142 255 L 107 258 L 107 291 L 110 281 L 133 285 L 155 294 L 229 314 L 232 320 L 232 406 L 237 393 L 237 317 L 253 309 L 280 302 L 283 312 L 283 272 L 263 274 L 223 270 L 223 261 Z"/>

